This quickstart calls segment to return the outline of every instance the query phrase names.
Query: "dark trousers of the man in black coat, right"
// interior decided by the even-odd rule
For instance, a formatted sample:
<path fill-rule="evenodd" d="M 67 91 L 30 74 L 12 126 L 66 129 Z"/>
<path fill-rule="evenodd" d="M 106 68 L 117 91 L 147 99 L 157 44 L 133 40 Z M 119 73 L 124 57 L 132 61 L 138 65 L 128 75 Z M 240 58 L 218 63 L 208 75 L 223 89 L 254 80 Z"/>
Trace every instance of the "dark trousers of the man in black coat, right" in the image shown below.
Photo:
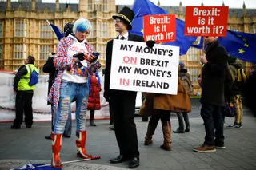
<path fill-rule="evenodd" d="M 224 144 L 222 107 L 202 104 L 201 116 L 206 129 L 204 144 L 210 146 Z"/>

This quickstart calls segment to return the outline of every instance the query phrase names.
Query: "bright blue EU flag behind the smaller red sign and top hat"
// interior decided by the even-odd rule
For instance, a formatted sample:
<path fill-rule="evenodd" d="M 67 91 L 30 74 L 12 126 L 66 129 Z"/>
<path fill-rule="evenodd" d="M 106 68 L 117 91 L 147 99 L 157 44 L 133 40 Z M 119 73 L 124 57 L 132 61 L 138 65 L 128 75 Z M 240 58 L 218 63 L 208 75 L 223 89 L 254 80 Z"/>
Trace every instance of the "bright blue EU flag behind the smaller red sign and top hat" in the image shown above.
<path fill-rule="evenodd" d="M 133 30 L 130 30 L 133 34 L 138 34 L 143 36 L 143 16 L 152 14 L 168 14 L 165 10 L 159 6 L 154 5 L 150 0 L 135 0 L 133 10 L 135 13 L 135 18 L 131 23 Z M 162 45 L 174 45 L 179 46 L 180 55 L 186 54 L 190 45 L 196 40 L 196 37 L 185 37 L 184 36 L 184 25 L 185 22 L 176 18 L 176 41 L 166 42 Z"/>

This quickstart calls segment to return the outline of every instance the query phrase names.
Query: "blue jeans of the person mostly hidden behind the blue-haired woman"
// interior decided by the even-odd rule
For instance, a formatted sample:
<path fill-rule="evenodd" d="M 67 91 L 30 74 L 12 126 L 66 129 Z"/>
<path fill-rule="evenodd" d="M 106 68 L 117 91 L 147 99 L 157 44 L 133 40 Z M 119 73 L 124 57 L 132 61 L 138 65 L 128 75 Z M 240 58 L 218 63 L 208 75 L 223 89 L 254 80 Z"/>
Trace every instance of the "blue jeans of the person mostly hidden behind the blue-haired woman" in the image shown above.
<path fill-rule="evenodd" d="M 57 120 L 57 112 L 54 112 L 54 105 L 51 105 L 51 124 L 52 124 L 51 129 L 52 129 L 52 132 L 54 132 L 54 125 L 55 125 L 56 120 Z M 63 135 L 71 136 L 71 133 L 72 133 L 72 116 L 71 116 L 71 114 L 69 114 L 67 117 L 65 131 L 64 131 Z"/>

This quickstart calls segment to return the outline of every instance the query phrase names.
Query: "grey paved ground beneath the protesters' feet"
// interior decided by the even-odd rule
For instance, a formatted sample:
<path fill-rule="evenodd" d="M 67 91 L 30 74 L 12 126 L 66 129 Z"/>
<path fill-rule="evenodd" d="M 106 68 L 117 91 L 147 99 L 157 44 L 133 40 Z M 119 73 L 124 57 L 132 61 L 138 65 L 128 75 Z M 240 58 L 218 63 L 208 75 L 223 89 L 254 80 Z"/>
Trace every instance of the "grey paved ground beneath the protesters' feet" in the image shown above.
<path fill-rule="evenodd" d="M 194 146 L 202 144 L 204 126 L 198 116 L 198 109 L 191 113 L 191 131 L 185 134 L 172 134 L 172 151 L 162 151 L 162 128 L 158 125 L 154 135 L 154 144 L 144 146 L 147 122 L 141 122 L 136 117 L 140 164 L 138 170 L 244 170 L 256 169 L 256 118 L 245 112 L 241 129 L 225 128 L 226 149 L 215 153 L 193 152 Z M 178 120 L 172 114 L 172 128 L 178 127 Z M 226 118 L 226 126 L 233 123 L 233 118 Z M 88 122 L 89 123 L 89 122 Z M 97 127 L 88 127 L 87 151 L 94 156 L 102 156 L 100 160 L 90 160 L 82 163 L 67 164 L 62 169 L 114 170 L 126 169 L 127 164 L 109 164 L 110 158 L 118 156 L 118 145 L 114 132 L 109 130 L 109 121 L 95 121 Z M 75 130 L 73 128 L 73 130 Z M 33 128 L 11 130 L 9 124 L 0 125 L 0 170 L 18 167 L 30 161 L 31 163 L 50 163 L 51 141 L 44 136 L 50 132 L 50 123 L 36 123 Z M 61 158 L 77 160 L 75 157 L 76 140 L 74 131 L 70 139 L 62 141 Z M 18 161 L 20 164 L 18 164 Z M 12 165 L 11 165 L 12 164 Z"/>

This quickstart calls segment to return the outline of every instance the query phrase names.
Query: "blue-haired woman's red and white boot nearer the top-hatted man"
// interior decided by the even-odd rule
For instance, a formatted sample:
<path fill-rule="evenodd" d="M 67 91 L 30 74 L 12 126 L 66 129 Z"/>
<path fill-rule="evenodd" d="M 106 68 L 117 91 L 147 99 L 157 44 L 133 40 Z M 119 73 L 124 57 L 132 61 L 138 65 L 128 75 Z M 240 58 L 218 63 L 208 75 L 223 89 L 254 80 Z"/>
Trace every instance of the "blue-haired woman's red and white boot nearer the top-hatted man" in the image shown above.
<path fill-rule="evenodd" d="M 78 140 L 75 141 L 77 144 L 77 156 L 82 157 L 83 159 L 89 159 L 93 156 L 90 156 L 86 153 L 86 131 L 78 131 L 77 132 Z"/>

